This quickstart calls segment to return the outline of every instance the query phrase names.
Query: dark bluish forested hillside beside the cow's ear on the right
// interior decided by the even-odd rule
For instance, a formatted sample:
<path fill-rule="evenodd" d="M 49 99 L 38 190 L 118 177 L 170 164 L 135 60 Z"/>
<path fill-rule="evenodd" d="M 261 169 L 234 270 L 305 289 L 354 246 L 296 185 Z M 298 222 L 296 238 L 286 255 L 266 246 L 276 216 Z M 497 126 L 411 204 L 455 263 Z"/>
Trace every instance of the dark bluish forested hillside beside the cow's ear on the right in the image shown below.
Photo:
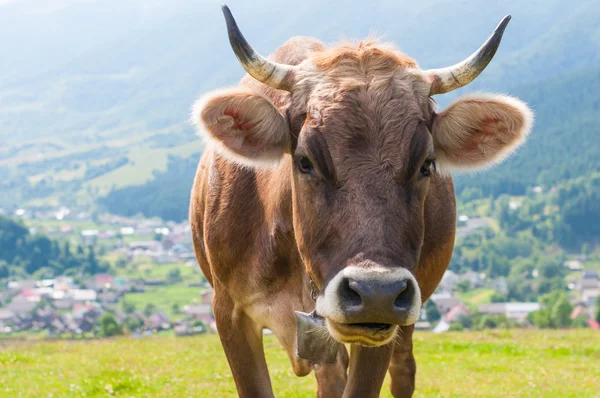
<path fill-rule="evenodd" d="M 457 191 L 475 187 L 483 195 L 521 195 L 534 185 L 600 171 L 600 68 L 565 74 L 510 92 L 535 111 L 525 146 L 499 167 L 456 178 Z"/>

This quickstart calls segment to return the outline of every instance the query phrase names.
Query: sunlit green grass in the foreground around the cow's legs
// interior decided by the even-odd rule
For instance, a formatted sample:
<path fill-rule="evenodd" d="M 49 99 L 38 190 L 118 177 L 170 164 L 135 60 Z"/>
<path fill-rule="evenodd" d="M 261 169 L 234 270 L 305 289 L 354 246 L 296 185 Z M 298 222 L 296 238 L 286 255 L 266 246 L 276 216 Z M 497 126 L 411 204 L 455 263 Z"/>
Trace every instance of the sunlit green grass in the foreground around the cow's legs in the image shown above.
<path fill-rule="evenodd" d="M 314 397 L 265 339 L 277 397 Z M 454 332 L 415 335 L 415 397 L 599 397 L 600 333 Z M 390 396 L 384 385 L 382 397 Z M 0 341 L 0 396 L 235 397 L 217 336 L 93 342 Z"/>

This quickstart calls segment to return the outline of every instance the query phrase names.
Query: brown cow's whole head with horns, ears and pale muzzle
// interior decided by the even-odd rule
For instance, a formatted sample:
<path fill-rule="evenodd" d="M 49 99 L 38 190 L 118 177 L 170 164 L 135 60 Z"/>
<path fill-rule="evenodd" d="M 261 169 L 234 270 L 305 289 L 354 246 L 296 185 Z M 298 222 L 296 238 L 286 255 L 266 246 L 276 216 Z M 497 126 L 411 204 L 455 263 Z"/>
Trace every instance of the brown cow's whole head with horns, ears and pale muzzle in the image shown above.
<path fill-rule="evenodd" d="M 233 161 L 289 170 L 294 233 L 320 291 L 317 313 L 341 342 L 386 344 L 397 325 L 419 317 L 413 271 L 430 185 L 446 170 L 501 161 L 531 128 L 531 111 L 515 98 L 469 95 L 441 113 L 431 100 L 481 73 L 509 17 L 465 61 L 427 71 L 370 41 L 316 46 L 300 64 L 283 65 L 256 53 L 224 13 L 248 74 L 290 94 L 277 106 L 249 88 L 211 93 L 194 121 Z M 292 161 L 280 164 L 286 157 Z"/>

